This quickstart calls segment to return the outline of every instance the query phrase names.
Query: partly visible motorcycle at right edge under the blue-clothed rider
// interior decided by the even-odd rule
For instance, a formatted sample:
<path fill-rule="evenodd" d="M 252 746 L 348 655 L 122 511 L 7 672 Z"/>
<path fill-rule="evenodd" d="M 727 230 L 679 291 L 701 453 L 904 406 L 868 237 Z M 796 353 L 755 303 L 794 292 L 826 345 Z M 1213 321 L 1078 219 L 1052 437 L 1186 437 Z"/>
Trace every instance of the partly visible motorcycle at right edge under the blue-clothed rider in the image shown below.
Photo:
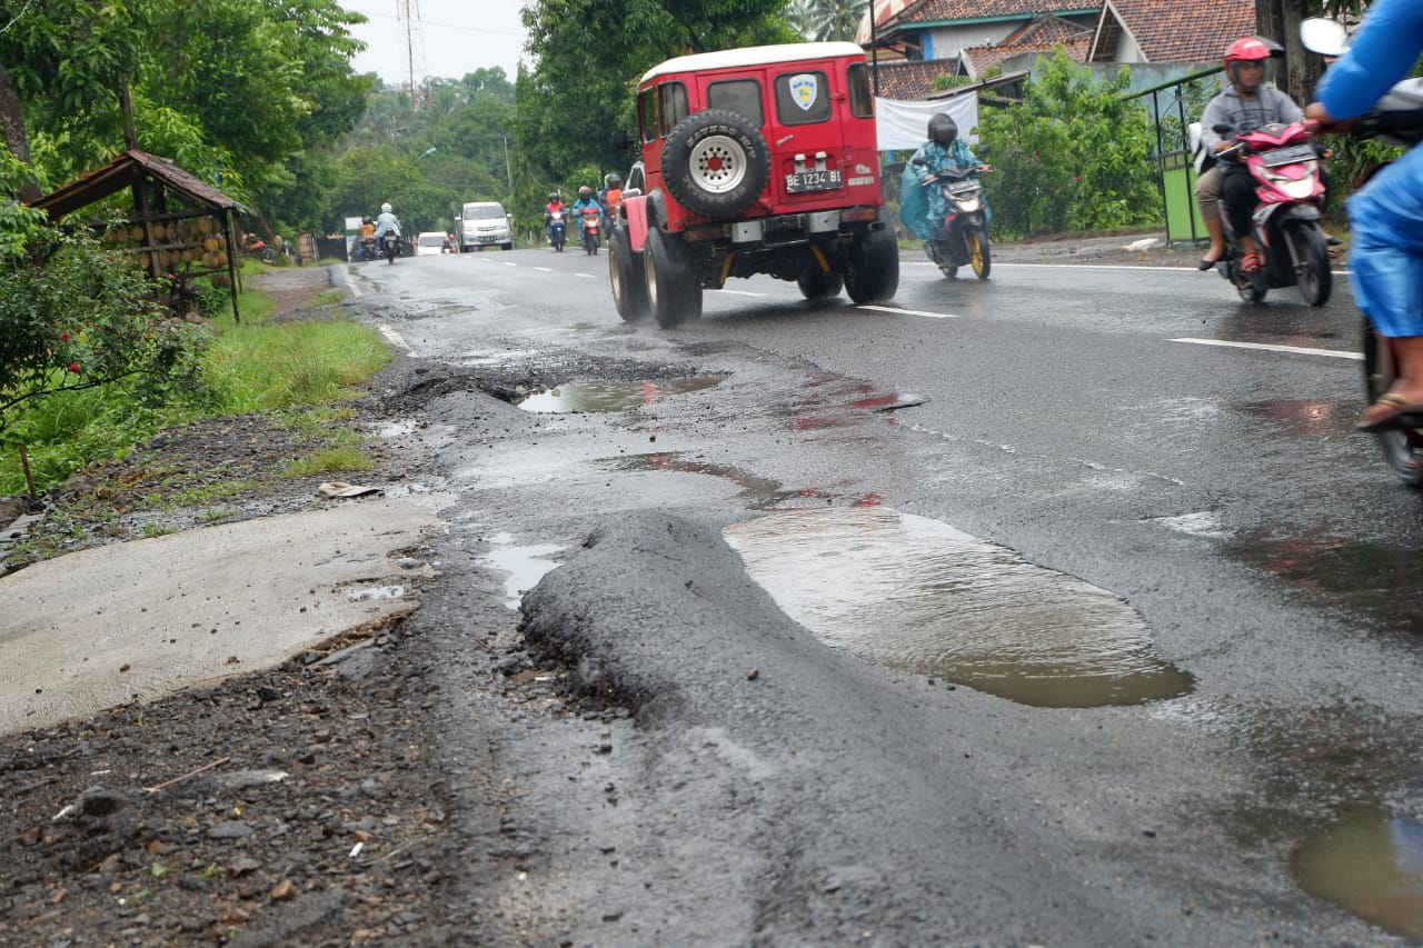
<path fill-rule="evenodd" d="M 1306 50 L 1321 56 L 1343 56 L 1349 46 L 1349 33 L 1342 24 L 1318 17 L 1299 24 L 1299 38 Z M 1413 148 L 1423 142 L 1423 78 L 1406 78 L 1397 83 L 1375 102 L 1372 110 L 1339 134 L 1372 138 L 1402 148 Z M 1385 164 L 1369 169 L 1365 181 L 1377 174 Z M 1362 319 L 1363 391 L 1369 404 L 1373 404 L 1393 387 L 1397 363 L 1387 336 L 1379 335 L 1368 313 L 1362 313 Z M 1409 420 L 1414 424 L 1379 431 L 1376 437 L 1383 448 L 1383 458 L 1397 471 L 1403 483 L 1409 487 L 1423 487 L 1423 417 Z"/>

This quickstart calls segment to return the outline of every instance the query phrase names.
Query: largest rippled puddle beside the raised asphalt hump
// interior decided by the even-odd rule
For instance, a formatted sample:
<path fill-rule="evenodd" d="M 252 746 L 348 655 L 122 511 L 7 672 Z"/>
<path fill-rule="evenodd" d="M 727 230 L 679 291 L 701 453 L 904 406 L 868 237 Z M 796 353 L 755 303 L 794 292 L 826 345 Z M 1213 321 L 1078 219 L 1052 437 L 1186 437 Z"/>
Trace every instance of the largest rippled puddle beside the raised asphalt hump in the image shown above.
<path fill-rule="evenodd" d="M 884 507 L 780 511 L 726 530 L 747 572 L 827 645 L 1035 707 L 1177 697 L 1137 612 L 1076 576 Z"/>

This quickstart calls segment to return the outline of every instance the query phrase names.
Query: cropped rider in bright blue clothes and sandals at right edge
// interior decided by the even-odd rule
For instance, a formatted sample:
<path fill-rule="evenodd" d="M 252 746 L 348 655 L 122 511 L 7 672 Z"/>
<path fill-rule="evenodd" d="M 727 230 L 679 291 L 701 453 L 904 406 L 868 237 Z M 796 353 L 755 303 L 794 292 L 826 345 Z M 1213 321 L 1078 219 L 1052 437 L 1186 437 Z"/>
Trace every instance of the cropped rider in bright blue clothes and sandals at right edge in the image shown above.
<path fill-rule="evenodd" d="M 1305 114 L 1323 130 L 1358 118 L 1409 74 L 1420 51 L 1423 3 L 1375 0 Z M 1423 414 L 1423 148 L 1409 149 L 1349 198 L 1349 223 L 1355 297 L 1395 357 L 1393 384 L 1356 427 L 1385 431 Z"/>

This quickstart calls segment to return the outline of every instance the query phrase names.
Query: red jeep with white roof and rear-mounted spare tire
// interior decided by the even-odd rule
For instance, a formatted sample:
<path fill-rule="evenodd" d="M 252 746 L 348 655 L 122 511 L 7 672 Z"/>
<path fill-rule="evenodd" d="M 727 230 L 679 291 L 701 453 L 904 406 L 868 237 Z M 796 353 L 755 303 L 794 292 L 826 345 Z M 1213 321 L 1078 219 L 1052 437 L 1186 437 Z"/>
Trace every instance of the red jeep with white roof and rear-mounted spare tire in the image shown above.
<path fill-rule="evenodd" d="M 702 289 L 770 273 L 807 299 L 894 296 L 874 97 L 854 43 L 700 53 L 638 84 L 642 162 L 609 236 L 618 313 L 670 329 Z M 620 142 L 628 145 L 628 137 Z"/>

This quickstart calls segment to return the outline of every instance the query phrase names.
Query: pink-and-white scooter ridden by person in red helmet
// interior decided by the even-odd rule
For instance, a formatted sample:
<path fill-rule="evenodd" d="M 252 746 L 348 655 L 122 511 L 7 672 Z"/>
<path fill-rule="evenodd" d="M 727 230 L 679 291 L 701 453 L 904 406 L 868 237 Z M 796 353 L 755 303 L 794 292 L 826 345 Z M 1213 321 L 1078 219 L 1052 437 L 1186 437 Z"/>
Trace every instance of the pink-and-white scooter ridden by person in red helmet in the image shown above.
<path fill-rule="evenodd" d="M 1215 125 L 1228 135 L 1229 125 Z M 1222 215 L 1227 252 L 1215 263 L 1222 278 L 1232 283 L 1247 303 L 1259 303 L 1272 288 L 1298 286 L 1311 306 L 1323 306 L 1333 290 L 1329 269 L 1329 245 L 1319 225 L 1325 185 L 1319 177 L 1319 151 L 1306 122 L 1271 122 L 1255 131 L 1235 135 L 1235 144 L 1220 158 L 1244 161 L 1255 184 L 1258 204 L 1251 215 L 1251 232 L 1259 248 L 1262 266 L 1254 273 L 1241 272 L 1244 252 Z"/>

